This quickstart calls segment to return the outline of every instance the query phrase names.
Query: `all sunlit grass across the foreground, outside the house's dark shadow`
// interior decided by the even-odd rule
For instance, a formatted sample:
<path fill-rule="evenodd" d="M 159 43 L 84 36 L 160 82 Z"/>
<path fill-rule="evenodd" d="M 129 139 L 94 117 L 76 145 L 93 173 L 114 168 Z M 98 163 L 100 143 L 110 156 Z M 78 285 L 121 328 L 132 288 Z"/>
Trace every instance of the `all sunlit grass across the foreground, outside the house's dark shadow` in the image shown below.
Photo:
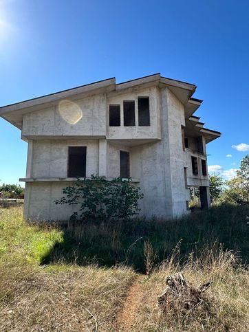
<path fill-rule="evenodd" d="M 39 265 L 62 240 L 61 230 L 23 222 L 20 208 L 0 208 L 1 332 L 248 331 L 248 268 L 219 245 L 203 248 L 202 256 L 190 255 L 184 265 L 177 246 L 153 271 L 155 248 L 149 243 L 143 258 L 149 276 L 138 278 L 122 266 Z M 176 301 L 162 312 L 158 296 L 175 272 L 196 287 L 213 281 L 206 307 L 186 313 Z"/>

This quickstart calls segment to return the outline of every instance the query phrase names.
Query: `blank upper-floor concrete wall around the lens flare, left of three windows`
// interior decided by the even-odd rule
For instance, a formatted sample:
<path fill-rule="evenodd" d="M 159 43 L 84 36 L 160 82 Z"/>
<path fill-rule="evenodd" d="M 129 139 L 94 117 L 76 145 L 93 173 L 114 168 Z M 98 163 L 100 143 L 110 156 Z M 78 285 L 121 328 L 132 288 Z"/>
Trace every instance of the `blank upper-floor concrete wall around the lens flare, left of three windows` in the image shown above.
<path fill-rule="evenodd" d="M 76 124 L 69 124 L 58 111 L 58 104 L 23 116 L 23 136 L 27 135 L 106 135 L 106 95 L 100 93 L 74 100 L 83 112 Z"/>

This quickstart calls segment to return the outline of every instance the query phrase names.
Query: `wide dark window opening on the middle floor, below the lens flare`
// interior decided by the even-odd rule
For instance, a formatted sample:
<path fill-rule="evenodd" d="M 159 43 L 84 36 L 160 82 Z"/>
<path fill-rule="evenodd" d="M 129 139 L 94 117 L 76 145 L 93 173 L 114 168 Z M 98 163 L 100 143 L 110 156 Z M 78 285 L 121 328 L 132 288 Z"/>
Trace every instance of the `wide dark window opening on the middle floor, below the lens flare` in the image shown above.
<path fill-rule="evenodd" d="M 86 146 L 69 146 L 67 177 L 85 177 L 86 162 Z"/>

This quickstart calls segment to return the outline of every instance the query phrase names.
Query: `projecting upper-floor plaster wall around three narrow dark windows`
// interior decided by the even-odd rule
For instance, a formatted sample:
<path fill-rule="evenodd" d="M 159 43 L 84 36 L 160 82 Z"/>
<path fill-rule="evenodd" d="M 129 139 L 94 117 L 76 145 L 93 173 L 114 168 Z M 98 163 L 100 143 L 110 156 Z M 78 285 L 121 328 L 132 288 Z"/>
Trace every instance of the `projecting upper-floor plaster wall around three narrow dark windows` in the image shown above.
<path fill-rule="evenodd" d="M 120 104 L 121 125 L 118 127 L 107 126 L 107 138 L 160 138 L 160 113 L 158 104 L 160 103 L 157 87 L 151 87 L 129 93 L 113 93 L 107 98 L 107 104 Z M 149 97 L 150 126 L 138 126 L 138 97 Z M 124 100 L 135 100 L 135 123 L 136 126 L 124 126 Z M 107 107 L 107 118 L 109 119 L 109 106 Z M 107 122 L 109 124 L 109 122 Z"/>

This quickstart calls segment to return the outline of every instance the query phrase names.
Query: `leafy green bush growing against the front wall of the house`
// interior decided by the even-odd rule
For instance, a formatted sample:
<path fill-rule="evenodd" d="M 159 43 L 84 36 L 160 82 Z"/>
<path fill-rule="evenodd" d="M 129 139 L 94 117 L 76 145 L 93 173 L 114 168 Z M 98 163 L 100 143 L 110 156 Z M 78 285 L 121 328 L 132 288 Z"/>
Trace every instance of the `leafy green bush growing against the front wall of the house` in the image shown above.
<path fill-rule="evenodd" d="M 78 178 L 74 186 L 63 188 L 62 197 L 56 204 L 80 204 L 80 219 L 107 221 L 115 219 L 129 220 L 138 214 L 138 199 L 143 195 L 140 188 L 130 184 L 131 179 L 120 177 L 108 181 L 105 177 L 91 175 L 90 179 Z M 74 212 L 71 219 L 78 219 Z"/>

